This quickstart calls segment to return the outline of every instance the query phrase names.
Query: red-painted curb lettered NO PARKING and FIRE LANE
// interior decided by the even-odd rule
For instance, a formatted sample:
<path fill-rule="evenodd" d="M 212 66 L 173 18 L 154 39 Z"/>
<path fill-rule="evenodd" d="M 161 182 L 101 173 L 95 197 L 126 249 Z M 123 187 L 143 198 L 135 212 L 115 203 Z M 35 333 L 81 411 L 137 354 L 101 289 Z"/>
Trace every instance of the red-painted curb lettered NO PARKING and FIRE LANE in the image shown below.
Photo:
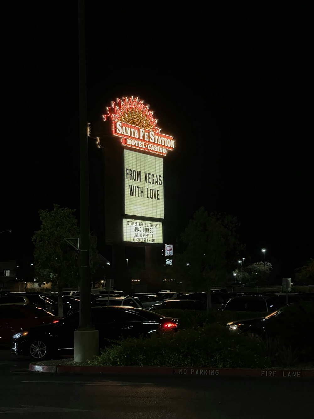
<path fill-rule="evenodd" d="M 67 372 L 79 374 L 127 374 L 127 375 L 180 375 L 193 377 L 258 377 L 258 378 L 314 378 L 314 370 L 270 370 L 270 369 L 226 369 L 226 368 L 190 368 L 190 367 L 93 367 L 72 365 L 29 365 L 30 371 Z"/>

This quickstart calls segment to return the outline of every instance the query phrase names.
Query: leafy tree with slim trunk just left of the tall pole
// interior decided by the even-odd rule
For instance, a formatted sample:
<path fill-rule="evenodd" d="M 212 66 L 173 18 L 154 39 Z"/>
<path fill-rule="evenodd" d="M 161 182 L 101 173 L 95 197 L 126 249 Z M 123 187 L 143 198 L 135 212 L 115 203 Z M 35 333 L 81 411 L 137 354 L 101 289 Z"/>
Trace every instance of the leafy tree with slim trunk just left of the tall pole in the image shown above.
<path fill-rule="evenodd" d="M 41 228 L 32 237 L 36 281 L 57 285 L 59 316 L 63 316 L 62 287 L 77 287 L 79 283 L 77 251 L 64 240 L 80 235 L 74 212 L 57 204 L 52 211 L 40 209 Z"/>

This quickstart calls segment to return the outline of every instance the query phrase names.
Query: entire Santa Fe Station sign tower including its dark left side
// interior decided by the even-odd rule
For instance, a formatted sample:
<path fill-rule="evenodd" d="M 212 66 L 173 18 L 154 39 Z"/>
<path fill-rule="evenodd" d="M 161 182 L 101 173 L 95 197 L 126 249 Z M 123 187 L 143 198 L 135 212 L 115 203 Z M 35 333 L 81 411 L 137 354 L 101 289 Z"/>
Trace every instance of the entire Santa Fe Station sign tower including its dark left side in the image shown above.
<path fill-rule="evenodd" d="M 106 187 L 106 243 L 162 244 L 163 159 L 174 150 L 175 140 L 161 133 L 149 105 L 133 96 L 111 102 L 103 122 L 95 125 L 93 138 L 106 148 L 105 176 L 111 178 Z"/>

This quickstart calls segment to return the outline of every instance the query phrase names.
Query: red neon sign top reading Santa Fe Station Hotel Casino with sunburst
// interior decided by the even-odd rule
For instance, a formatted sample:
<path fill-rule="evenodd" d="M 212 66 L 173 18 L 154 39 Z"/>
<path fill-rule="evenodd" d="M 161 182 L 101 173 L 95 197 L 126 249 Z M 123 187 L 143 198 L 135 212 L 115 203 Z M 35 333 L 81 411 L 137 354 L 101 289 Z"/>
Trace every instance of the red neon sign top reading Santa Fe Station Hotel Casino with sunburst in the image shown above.
<path fill-rule="evenodd" d="M 103 119 L 112 121 L 112 133 L 124 147 L 163 156 L 175 148 L 173 137 L 160 133 L 153 112 L 139 98 L 116 99 L 107 111 Z"/>

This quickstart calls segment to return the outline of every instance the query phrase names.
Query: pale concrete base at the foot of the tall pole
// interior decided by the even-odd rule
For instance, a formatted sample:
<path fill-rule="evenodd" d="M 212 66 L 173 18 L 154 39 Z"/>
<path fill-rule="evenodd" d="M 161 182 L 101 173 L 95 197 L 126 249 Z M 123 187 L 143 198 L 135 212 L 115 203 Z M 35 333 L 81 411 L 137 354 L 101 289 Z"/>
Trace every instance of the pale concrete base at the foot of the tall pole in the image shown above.
<path fill-rule="evenodd" d="M 74 360 L 86 362 L 99 354 L 98 330 L 75 330 L 74 332 Z"/>

